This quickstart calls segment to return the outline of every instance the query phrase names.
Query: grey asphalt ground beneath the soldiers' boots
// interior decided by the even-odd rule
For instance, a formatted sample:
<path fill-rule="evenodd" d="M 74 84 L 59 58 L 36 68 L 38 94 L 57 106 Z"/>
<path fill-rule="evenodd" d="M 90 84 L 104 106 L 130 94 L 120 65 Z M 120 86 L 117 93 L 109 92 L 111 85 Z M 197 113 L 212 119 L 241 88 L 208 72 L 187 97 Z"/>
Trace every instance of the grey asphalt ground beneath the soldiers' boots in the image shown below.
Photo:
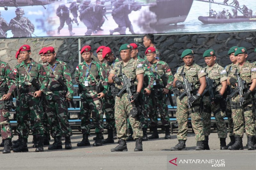
<path fill-rule="evenodd" d="M 71 150 L 47 150 L 48 146 L 44 146 L 44 152 L 35 152 L 32 148 L 32 136 L 28 138 L 29 152 L 10 154 L 0 154 L 1 168 L 0 169 L 96 169 L 96 170 L 115 170 L 115 169 L 179 169 L 181 164 L 178 164 L 179 159 L 218 159 L 230 158 L 232 163 L 226 160 L 225 167 L 220 169 L 256 169 L 255 153 L 256 151 L 248 151 L 246 149 L 246 136 L 243 138 L 244 150 L 230 151 L 220 150 L 220 142 L 216 132 L 213 132 L 209 137 L 209 145 L 211 150 L 195 151 L 195 134 L 189 130 L 188 140 L 186 142 L 187 151 L 170 151 L 172 146 L 175 146 L 178 141 L 176 134 L 172 135 L 172 139 L 164 139 L 164 133 L 159 134 L 159 139 L 148 140 L 143 142 L 143 152 L 134 152 L 135 141 L 127 142 L 128 152 L 110 152 L 111 148 L 116 147 L 117 140 L 114 144 L 104 144 L 103 146 L 94 147 L 92 133 L 89 137 L 91 146 L 77 147 L 77 142 L 82 140 L 82 135 L 79 131 L 74 131 L 71 137 L 73 148 Z M 104 134 L 107 138 L 107 134 Z M 17 136 L 13 137 L 16 140 Z M 227 138 L 227 143 L 229 142 Z M 63 148 L 64 148 L 64 141 Z M 50 141 L 53 143 L 53 139 Z M 0 148 L 2 152 L 3 148 Z M 169 163 L 172 159 L 177 159 L 178 166 Z M 243 160 L 242 160 L 242 159 Z M 251 161 L 254 160 L 253 161 Z M 242 162 L 241 162 L 242 161 Z M 174 161 L 175 162 L 175 161 Z M 248 162 L 252 164 L 248 165 Z M 236 165 L 237 164 L 237 165 Z M 184 164 L 185 165 L 185 164 Z M 181 169 L 200 169 L 196 164 L 187 164 Z M 201 166 L 201 165 L 200 165 Z M 202 169 L 217 169 L 208 164 L 205 164 Z"/>

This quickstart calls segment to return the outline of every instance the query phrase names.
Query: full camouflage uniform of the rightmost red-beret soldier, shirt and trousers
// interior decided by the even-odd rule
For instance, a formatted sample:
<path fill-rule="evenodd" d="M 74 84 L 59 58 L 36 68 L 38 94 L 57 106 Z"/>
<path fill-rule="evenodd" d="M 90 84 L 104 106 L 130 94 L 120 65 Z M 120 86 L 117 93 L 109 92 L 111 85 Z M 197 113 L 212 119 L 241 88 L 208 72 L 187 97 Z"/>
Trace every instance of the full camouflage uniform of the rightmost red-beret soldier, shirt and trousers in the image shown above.
<path fill-rule="evenodd" d="M 148 110 L 149 110 L 149 119 L 150 119 L 150 127 L 155 127 L 158 124 L 158 114 L 157 108 L 160 112 L 161 122 L 163 126 L 170 125 L 170 117 L 168 113 L 168 106 L 164 102 L 166 99 L 166 95 L 163 94 L 162 89 L 167 88 L 169 90 L 172 89 L 173 76 L 172 71 L 167 63 L 164 61 L 157 60 L 156 63 L 149 63 L 150 68 L 153 69 L 155 75 L 155 83 L 151 92 L 154 92 L 156 106 L 153 104 L 152 99 L 148 102 Z M 157 73 L 158 74 L 157 74 Z M 167 81 L 166 87 L 164 87 L 163 80 L 160 76 L 165 75 L 165 79 Z"/>

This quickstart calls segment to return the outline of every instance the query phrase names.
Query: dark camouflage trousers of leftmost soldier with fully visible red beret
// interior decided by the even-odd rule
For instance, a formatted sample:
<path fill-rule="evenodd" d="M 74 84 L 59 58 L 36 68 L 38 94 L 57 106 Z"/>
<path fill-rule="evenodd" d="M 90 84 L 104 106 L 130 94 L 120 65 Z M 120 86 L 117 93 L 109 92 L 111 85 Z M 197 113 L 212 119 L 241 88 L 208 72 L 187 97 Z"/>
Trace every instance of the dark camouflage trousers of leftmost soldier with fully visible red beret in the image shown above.
<path fill-rule="evenodd" d="M 32 134 L 36 137 L 44 136 L 44 126 L 42 122 L 43 113 L 39 107 L 40 98 L 35 98 L 28 93 L 20 94 L 20 132 L 21 137 L 28 138 L 29 121 L 32 126 Z"/>

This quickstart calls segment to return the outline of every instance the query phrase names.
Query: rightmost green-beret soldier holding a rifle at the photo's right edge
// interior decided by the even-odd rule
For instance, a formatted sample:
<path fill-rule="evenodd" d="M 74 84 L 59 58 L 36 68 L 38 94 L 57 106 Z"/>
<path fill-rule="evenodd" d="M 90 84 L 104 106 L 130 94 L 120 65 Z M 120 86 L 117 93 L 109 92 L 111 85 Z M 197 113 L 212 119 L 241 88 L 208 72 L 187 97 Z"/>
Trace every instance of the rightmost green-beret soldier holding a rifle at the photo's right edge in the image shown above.
<path fill-rule="evenodd" d="M 255 65 L 249 63 L 247 58 L 247 50 L 244 47 L 237 48 L 235 52 L 237 65 L 233 65 L 228 74 L 228 85 L 245 86 L 242 90 L 242 96 L 237 93 L 231 99 L 232 118 L 234 122 L 234 135 L 235 143 L 228 147 L 229 150 L 243 150 L 242 138 L 244 135 L 244 121 L 245 119 L 245 133 L 247 136 L 247 149 L 254 150 L 254 135 L 255 135 L 255 124 L 254 114 L 252 106 L 252 92 L 256 86 L 256 68 Z M 240 75 L 239 75 L 240 74 Z M 239 75 L 239 76 L 238 76 Z M 241 82 L 238 84 L 237 77 L 241 78 Z M 242 88 L 241 88 L 242 89 Z"/>

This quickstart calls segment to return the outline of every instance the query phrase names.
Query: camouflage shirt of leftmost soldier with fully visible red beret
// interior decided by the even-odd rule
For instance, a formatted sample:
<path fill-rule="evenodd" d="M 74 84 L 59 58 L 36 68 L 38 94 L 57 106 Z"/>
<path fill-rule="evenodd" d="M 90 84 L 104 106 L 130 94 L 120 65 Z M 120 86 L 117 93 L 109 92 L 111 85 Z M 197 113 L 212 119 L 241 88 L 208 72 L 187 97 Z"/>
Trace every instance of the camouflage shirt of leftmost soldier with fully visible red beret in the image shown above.
<path fill-rule="evenodd" d="M 30 83 L 30 77 L 27 75 L 25 69 L 27 69 L 30 77 L 35 78 L 37 83 L 41 85 L 40 90 L 45 92 L 46 87 L 49 84 L 49 78 L 46 75 L 44 67 L 41 64 L 36 63 L 33 59 L 31 59 L 31 62 L 28 63 L 28 65 L 22 61 L 13 69 L 13 73 L 16 75 L 18 81 L 19 89 L 29 89 L 32 87 L 32 84 Z M 33 93 L 34 92 L 29 92 L 29 94 L 32 95 Z"/>

